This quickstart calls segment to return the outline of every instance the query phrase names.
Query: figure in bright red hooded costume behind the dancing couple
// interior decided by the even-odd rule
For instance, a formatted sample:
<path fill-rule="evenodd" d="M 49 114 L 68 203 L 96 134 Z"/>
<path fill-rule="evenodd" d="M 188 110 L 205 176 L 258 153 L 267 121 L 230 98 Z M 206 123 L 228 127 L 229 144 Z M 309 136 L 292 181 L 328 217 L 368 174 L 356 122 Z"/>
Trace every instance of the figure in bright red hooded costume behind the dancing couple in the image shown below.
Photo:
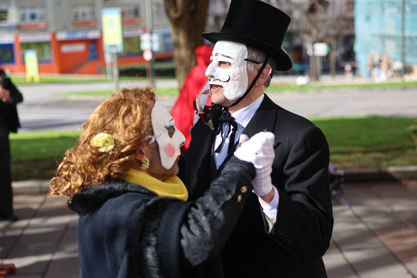
<path fill-rule="evenodd" d="M 200 45 L 196 48 L 197 65 L 190 70 L 185 78 L 180 95 L 171 110 L 171 115 L 175 120 L 176 128 L 181 131 L 186 138 L 185 144 L 181 147 L 181 152 L 186 150 L 188 145 L 190 145 L 190 127 L 193 124 L 195 115 L 193 101 L 196 100 L 196 95 L 201 92 L 208 80 L 204 73 L 210 64 L 210 55 L 212 51 L 213 48 L 208 45 Z M 206 105 L 211 105 L 210 97 L 208 98 L 207 103 Z"/>

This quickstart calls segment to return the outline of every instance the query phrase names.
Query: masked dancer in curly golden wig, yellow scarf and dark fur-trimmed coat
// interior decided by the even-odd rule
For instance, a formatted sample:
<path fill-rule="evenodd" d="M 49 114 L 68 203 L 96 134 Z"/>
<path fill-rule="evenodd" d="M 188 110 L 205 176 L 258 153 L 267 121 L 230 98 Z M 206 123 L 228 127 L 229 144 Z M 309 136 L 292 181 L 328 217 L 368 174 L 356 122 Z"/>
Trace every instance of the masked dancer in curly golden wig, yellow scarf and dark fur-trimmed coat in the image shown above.
<path fill-rule="evenodd" d="M 123 89 L 100 103 L 50 182 L 80 215 L 80 277 L 222 277 L 219 250 L 251 194 L 254 165 L 232 158 L 187 201 L 176 176 L 185 138 L 154 98 L 149 87 Z"/>

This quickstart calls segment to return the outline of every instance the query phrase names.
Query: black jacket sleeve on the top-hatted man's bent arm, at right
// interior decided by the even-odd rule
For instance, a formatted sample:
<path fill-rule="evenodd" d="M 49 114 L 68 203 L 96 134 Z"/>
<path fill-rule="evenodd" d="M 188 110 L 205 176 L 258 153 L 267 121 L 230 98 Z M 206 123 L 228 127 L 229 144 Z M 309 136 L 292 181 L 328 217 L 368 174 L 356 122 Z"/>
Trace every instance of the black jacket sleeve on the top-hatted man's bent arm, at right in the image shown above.
<path fill-rule="evenodd" d="M 279 205 L 276 223 L 269 234 L 286 250 L 305 260 L 322 257 L 332 236 L 328 167 L 327 140 L 319 128 L 311 126 L 292 146 L 281 184 L 276 184 Z"/>

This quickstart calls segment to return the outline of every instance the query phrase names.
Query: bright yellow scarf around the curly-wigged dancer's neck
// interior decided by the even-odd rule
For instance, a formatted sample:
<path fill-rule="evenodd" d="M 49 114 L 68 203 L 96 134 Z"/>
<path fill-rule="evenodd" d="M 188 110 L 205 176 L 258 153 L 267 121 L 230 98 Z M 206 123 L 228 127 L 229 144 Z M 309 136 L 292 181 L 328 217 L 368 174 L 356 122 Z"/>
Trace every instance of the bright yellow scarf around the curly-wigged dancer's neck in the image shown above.
<path fill-rule="evenodd" d="M 142 171 L 130 168 L 129 172 L 122 179 L 148 188 L 159 196 L 178 198 L 183 201 L 188 199 L 187 188 L 177 176 L 161 181 Z"/>

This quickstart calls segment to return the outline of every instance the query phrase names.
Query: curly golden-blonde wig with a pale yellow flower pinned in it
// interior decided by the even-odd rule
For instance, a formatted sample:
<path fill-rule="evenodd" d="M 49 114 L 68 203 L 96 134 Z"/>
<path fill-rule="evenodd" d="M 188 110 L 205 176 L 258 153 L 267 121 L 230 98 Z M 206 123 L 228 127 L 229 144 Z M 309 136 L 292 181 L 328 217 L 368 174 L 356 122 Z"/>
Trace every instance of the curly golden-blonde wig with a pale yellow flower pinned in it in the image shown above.
<path fill-rule="evenodd" d="M 150 125 L 152 87 L 122 89 L 100 103 L 83 124 L 78 146 L 68 149 L 50 181 L 50 194 L 70 198 L 78 191 L 126 174 L 136 159 L 136 149 Z M 115 140 L 114 148 L 100 152 L 90 145 L 98 133 Z"/>

